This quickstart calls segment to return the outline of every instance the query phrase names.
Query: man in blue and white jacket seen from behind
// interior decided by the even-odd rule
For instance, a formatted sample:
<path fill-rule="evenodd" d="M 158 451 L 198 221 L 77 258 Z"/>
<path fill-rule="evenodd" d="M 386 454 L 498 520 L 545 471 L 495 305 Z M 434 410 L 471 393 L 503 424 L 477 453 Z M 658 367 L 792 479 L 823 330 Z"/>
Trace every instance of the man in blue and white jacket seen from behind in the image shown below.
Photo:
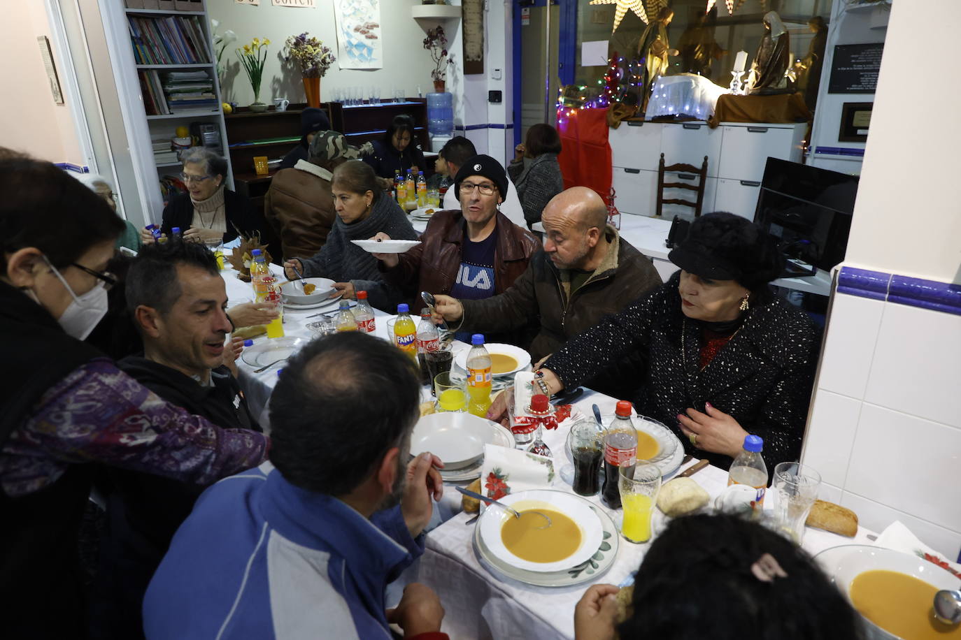
<path fill-rule="evenodd" d="M 358 333 L 291 358 L 271 398 L 271 462 L 211 486 L 178 530 L 143 603 L 149 640 L 438 640 L 437 595 L 384 588 L 424 551 L 442 482 L 406 464 L 420 385 L 407 356 Z M 400 503 L 400 504 L 398 504 Z"/>

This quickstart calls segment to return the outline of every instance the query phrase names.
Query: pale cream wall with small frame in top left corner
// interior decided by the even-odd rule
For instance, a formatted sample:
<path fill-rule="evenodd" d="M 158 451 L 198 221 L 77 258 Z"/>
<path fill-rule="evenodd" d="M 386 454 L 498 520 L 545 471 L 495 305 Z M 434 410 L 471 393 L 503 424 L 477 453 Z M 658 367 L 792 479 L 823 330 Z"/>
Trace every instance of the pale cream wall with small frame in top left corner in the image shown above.
<path fill-rule="evenodd" d="M 50 37 L 40 0 L 4 3 L 7 29 L 0 37 L 0 59 L 7 91 L 0 100 L 0 146 L 51 162 L 84 164 L 73 116 L 66 104 L 54 103 L 40 58 L 37 36 Z M 55 62 L 56 43 L 50 43 Z M 58 65 L 58 73 L 62 69 Z"/>

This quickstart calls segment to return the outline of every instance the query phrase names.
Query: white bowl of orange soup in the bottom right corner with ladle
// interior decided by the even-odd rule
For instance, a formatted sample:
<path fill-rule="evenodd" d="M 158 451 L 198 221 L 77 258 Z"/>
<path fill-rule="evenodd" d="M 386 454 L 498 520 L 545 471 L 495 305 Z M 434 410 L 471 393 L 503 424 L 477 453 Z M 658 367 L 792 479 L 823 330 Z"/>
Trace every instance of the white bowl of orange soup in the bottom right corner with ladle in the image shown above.
<path fill-rule="evenodd" d="M 866 621 L 870 640 L 961 640 L 961 627 L 934 618 L 934 594 L 961 580 L 922 557 L 850 544 L 815 559 Z"/>

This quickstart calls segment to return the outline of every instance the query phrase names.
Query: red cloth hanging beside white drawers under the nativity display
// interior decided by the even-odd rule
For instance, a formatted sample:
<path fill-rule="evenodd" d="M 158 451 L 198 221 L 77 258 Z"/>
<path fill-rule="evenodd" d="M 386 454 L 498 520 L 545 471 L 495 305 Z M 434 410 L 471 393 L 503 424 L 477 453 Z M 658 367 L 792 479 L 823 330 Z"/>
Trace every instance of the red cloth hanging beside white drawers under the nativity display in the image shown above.
<path fill-rule="evenodd" d="M 564 175 L 564 188 L 584 186 L 594 189 L 608 202 L 611 170 L 610 145 L 607 144 L 607 109 L 558 111 L 557 132 L 562 151 L 557 156 Z"/>

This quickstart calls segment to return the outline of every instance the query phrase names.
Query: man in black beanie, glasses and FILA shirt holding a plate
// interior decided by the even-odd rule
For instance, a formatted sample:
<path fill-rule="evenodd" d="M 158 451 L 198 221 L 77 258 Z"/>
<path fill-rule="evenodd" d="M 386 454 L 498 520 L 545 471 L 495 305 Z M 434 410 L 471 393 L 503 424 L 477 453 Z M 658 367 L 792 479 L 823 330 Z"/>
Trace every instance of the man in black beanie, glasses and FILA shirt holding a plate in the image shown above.
<path fill-rule="evenodd" d="M 454 191 L 460 210 L 433 214 L 420 245 L 406 253 L 374 254 L 384 279 L 404 287 L 412 298 L 421 291 L 458 299 L 501 294 L 540 249 L 530 231 L 499 211 L 507 193 L 500 162 L 489 155 L 468 158 L 457 171 Z M 374 236 L 379 237 L 389 240 L 383 233 Z"/>

